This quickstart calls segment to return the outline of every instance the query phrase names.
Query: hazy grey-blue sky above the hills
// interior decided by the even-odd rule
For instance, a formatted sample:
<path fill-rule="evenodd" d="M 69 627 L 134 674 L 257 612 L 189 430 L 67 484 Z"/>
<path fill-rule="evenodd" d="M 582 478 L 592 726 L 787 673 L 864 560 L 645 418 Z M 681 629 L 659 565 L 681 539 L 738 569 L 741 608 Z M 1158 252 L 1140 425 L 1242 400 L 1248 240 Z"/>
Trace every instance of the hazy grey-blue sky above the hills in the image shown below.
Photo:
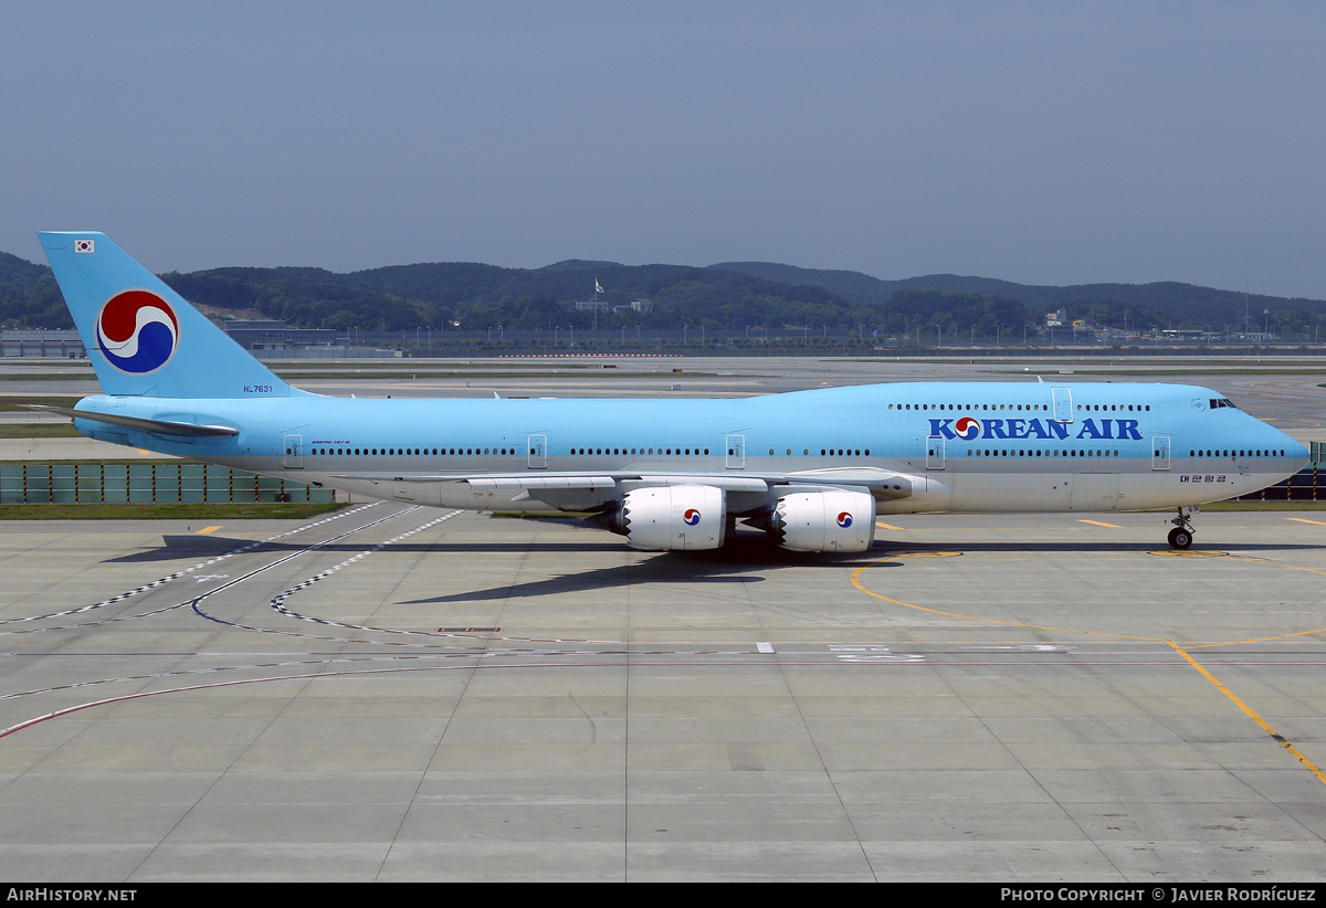
<path fill-rule="evenodd" d="M 1321 3 L 7 3 L 0 249 L 1326 298 Z"/>

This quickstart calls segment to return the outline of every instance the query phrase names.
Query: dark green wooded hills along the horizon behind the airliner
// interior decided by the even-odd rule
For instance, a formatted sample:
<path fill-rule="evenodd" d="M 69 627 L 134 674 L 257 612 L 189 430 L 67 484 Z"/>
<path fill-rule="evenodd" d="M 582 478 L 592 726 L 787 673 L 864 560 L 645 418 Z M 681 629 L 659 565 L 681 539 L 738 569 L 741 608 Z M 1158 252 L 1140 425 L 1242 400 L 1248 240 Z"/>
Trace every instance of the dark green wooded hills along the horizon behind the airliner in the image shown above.
<path fill-rule="evenodd" d="M 184 298 L 212 314 L 284 318 L 294 326 L 412 330 L 459 322 L 463 330 L 708 327 L 740 331 L 821 329 L 882 335 L 916 330 L 955 338 L 1044 325 L 1065 310 L 1114 327 L 1192 327 L 1241 331 L 1244 313 L 1256 329 L 1270 321 L 1281 337 L 1311 338 L 1326 321 L 1326 301 L 1285 300 L 1179 282 L 1036 286 L 984 277 L 930 274 L 886 281 L 847 270 L 774 262 L 723 262 L 708 268 L 621 265 L 569 260 L 545 268 L 476 262 L 392 265 L 338 273 L 321 268 L 216 268 L 162 276 Z M 594 298 L 607 310 L 577 309 Z M 647 300 L 646 310 L 623 309 Z M 1270 312 L 1269 317 L 1265 314 Z M 50 269 L 0 253 L 0 322 L 68 327 Z"/>

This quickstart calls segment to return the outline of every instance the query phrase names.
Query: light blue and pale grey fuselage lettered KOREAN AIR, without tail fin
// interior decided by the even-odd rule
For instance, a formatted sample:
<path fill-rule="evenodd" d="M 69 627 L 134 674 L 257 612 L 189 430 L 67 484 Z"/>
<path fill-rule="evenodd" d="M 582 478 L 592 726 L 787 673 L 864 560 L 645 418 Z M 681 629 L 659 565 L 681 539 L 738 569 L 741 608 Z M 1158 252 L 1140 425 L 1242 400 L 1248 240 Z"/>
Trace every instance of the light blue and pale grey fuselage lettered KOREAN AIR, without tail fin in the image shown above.
<path fill-rule="evenodd" d="M 541 490 L 520 505 L 581 509 L 648 484 L 635 473 L 672 481 L 692 473 L 861 485 L 879 513 L 1122 510 L 1244 494 L 1306 464 L 1302 444 L 1220 399 L 1193 386 L 1029 382 L 748 399 L 97 396 L 80 408 L 240 431 L 187 441 L 76 424 L 121 444 L 438 506 L 509 506 L 517 497 L 477 494 L 461 476 L 618 477 L 618 488 Z M 911 477 L 907 494 L 879 488 L 896 485 L 892 473 Z M 431 481 L 418 481 L 424 476 Z M 770 494 L 733 489 L 729 512 L 766 506 Z"/>

